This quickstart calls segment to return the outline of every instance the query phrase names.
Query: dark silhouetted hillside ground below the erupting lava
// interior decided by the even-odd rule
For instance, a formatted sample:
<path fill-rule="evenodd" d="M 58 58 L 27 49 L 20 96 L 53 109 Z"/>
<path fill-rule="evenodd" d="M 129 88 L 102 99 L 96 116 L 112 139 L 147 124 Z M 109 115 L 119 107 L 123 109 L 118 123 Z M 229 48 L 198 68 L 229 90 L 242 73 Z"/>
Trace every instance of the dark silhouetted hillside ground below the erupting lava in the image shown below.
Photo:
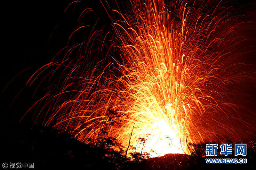
<path fill-rule="evenodd" d="M 41 126 L 21 125 L 18 138 L 3 143 L 3 162 L 34 162 L 35 169 L 255 169 L 255 148 L 247 148 L 247 164 L 206 164 L 205 158 L 185 154 L 166 154 L 141 163 L 124 163 L 105 157 L 106 151 L 85 145 L 66 133 Z M 218 158 L 218 157 L 214 157 Z M 225 157 L 240 158 L 240 157 Z"/>

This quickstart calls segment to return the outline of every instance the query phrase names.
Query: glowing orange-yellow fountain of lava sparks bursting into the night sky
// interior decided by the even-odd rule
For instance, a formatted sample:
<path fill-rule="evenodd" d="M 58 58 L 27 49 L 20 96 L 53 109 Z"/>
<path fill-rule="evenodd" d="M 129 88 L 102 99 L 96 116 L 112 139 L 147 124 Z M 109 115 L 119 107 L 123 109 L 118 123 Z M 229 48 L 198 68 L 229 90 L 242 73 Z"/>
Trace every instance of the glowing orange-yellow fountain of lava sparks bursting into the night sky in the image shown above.
<path fill-rule="evenodd" d="M 236 124 L 253 128 L 237 116 L 239 107 L 232 103 L 230 84 L 244 76 L 234 69 L 242 53 L 235 51 L 243 42 L 236 32 L 243 24 L 235 23 L 227 8 L 208 1 L 135 0 L 121 12 L 101 4 L 112 32 L 92 32 L 89 39 L 66 47 L 62 60 L 52 60 L 28 80 L 31 85 L 47 73 L 44 79 L 52 82 L 36 103 L 35 123 L 67 131 L 87 144 L 99 138 L 105 125 L 125 149 L 133 146 L 129 152 L 152 156 L 190 154 L 187 143 L 217 136 L 238 139 Z M 102 45 L 95 45 L 97 36 Z M 70 59 L 76 49 L 78 55 Z M 97 56 L 104 49 L 106 60 L 87 64 L 92 51 Z M 118 124 L 107 124 L 115 119 Z M 95 121 L 106 124 L 96 128 Z"/>

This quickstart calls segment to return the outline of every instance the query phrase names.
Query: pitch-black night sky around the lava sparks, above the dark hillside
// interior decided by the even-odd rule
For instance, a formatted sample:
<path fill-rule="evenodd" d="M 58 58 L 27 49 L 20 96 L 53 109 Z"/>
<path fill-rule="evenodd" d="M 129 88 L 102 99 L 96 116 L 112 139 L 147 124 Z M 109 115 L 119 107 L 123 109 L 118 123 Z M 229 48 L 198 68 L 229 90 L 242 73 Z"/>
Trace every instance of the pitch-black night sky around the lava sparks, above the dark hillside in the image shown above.
<path fill-rule="evenodd" d="M 76 6 L 75 3 L 71 4 L 66 12 L 65 9 L 72 2 L 70 0 L 11 1 L 1 5 L 3 30 L 0 60 L 0 136 L 4 140 L 1 147 L 10 147 L 19 135 L 22 135 L 20 131 L 23 128 L 29 129 L 32 126 L 29 116 L 21 123 L 19 120 L 32 104 L 44 95 L 44 92 L 38 91 L 32 98 L 36 86 L 26 87 L 26 82 L 37 69 L 52 60 L 63 47 L 69 45 L 68 37 L 77 27 L 80 13 L 85 8 L 93 8 L 94 12 L 83 20 L 84 25 L 94 25 L 100 18 L 96 29 L 101 29 L 103 26 L 106 31 L 111 29 L 110 20 L 100 2 L 92 1 L 85 0 L 77 3 Z M 253 0 L 243 0 L 236 5 L 239 8 L 245 5 L 244 10 L 252 11 L 255 8 L 248 4 L 253 2 Z M 255 17 L 248 16 L 248 21 L 256 20 Z M 88 36 L 89 31 L 90 29 L 85 29 L 84 37 Z M 248 38 L 256 37 L 255 32 L 245 34 Z M 255 40 L 250 43 L 255 43 Z M 255 55 L 252 55 L 250 62 L 255 63 L 255 60 Z M 249 91 L 256 102 L 256 90 L 249 89 Z"/>

